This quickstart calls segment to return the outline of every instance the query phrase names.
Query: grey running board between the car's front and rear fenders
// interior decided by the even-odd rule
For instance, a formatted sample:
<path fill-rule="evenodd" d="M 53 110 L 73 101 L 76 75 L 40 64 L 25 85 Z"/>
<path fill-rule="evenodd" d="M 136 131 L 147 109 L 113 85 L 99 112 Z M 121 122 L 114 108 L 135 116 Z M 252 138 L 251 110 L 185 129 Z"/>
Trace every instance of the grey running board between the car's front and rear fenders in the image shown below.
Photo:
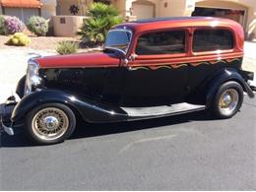
<path fill-rule="evenodd" d="M 171 105 L 151 106 L 151 107 L 121 107 L 130 118 L 155 118 L 160 116 L 169 116 L 182 114 L 198 110 L 204 110 L 205 105 L 195 105 L 187 102 L 181 102 Z M 128 117 L 128 118 L 129 118 Z"/>

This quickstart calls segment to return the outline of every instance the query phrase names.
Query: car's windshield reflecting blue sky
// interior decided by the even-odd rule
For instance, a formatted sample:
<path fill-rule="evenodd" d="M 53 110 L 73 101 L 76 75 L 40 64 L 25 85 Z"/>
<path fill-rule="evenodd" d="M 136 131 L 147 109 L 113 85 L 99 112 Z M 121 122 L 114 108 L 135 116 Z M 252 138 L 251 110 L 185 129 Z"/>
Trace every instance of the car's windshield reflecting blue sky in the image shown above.
<path fill-rule="evenodd" d="M 126 53 L 132 37 L 132 32 L 126 30 L 112 30 L 108 32 L 105 48 L 118 49 Z"/>

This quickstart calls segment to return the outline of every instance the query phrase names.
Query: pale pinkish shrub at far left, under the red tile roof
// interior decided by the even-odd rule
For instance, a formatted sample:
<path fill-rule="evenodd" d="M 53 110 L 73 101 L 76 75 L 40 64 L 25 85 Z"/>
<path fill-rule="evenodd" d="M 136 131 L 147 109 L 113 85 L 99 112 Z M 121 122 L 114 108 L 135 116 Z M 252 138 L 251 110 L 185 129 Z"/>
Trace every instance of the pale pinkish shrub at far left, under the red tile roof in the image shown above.
<path fill-rule="evenodd" d="M 5 18 L 5 29 L 7 34 L 14 34 L 16 32 L 23 32 L 25 25 L 19 18 L 8 16 Z"/>

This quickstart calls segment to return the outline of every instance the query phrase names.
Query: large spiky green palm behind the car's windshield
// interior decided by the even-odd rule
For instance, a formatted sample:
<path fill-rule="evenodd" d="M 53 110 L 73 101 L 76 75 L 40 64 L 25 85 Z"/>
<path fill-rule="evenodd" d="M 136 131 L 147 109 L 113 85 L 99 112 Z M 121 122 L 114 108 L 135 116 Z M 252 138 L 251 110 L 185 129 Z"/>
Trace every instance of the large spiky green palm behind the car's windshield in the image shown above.
<path fill-rule="evenodd" d="M 90 18 L 84 20 L 80 34 L 93 42 L 103 42 L 107 32 L 115 25 L 123 22 L 116 8 L 103 3 L 93 4 L 88 12 Z"/>

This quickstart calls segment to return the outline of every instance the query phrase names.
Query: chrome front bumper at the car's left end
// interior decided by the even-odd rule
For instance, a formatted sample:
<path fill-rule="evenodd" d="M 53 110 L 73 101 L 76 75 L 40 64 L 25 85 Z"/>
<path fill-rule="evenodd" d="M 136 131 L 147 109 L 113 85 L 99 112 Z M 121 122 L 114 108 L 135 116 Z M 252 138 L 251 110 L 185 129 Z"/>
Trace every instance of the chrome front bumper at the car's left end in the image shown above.
<path fill-rule="evenodd" d="M 14 126 L 11 121 L 12 112 L 17 101 L 15 96 L 10 96 L 4 104 L 0 106 L 0 132 L 6 132 L 8 135 L 14 135 Z"/>

